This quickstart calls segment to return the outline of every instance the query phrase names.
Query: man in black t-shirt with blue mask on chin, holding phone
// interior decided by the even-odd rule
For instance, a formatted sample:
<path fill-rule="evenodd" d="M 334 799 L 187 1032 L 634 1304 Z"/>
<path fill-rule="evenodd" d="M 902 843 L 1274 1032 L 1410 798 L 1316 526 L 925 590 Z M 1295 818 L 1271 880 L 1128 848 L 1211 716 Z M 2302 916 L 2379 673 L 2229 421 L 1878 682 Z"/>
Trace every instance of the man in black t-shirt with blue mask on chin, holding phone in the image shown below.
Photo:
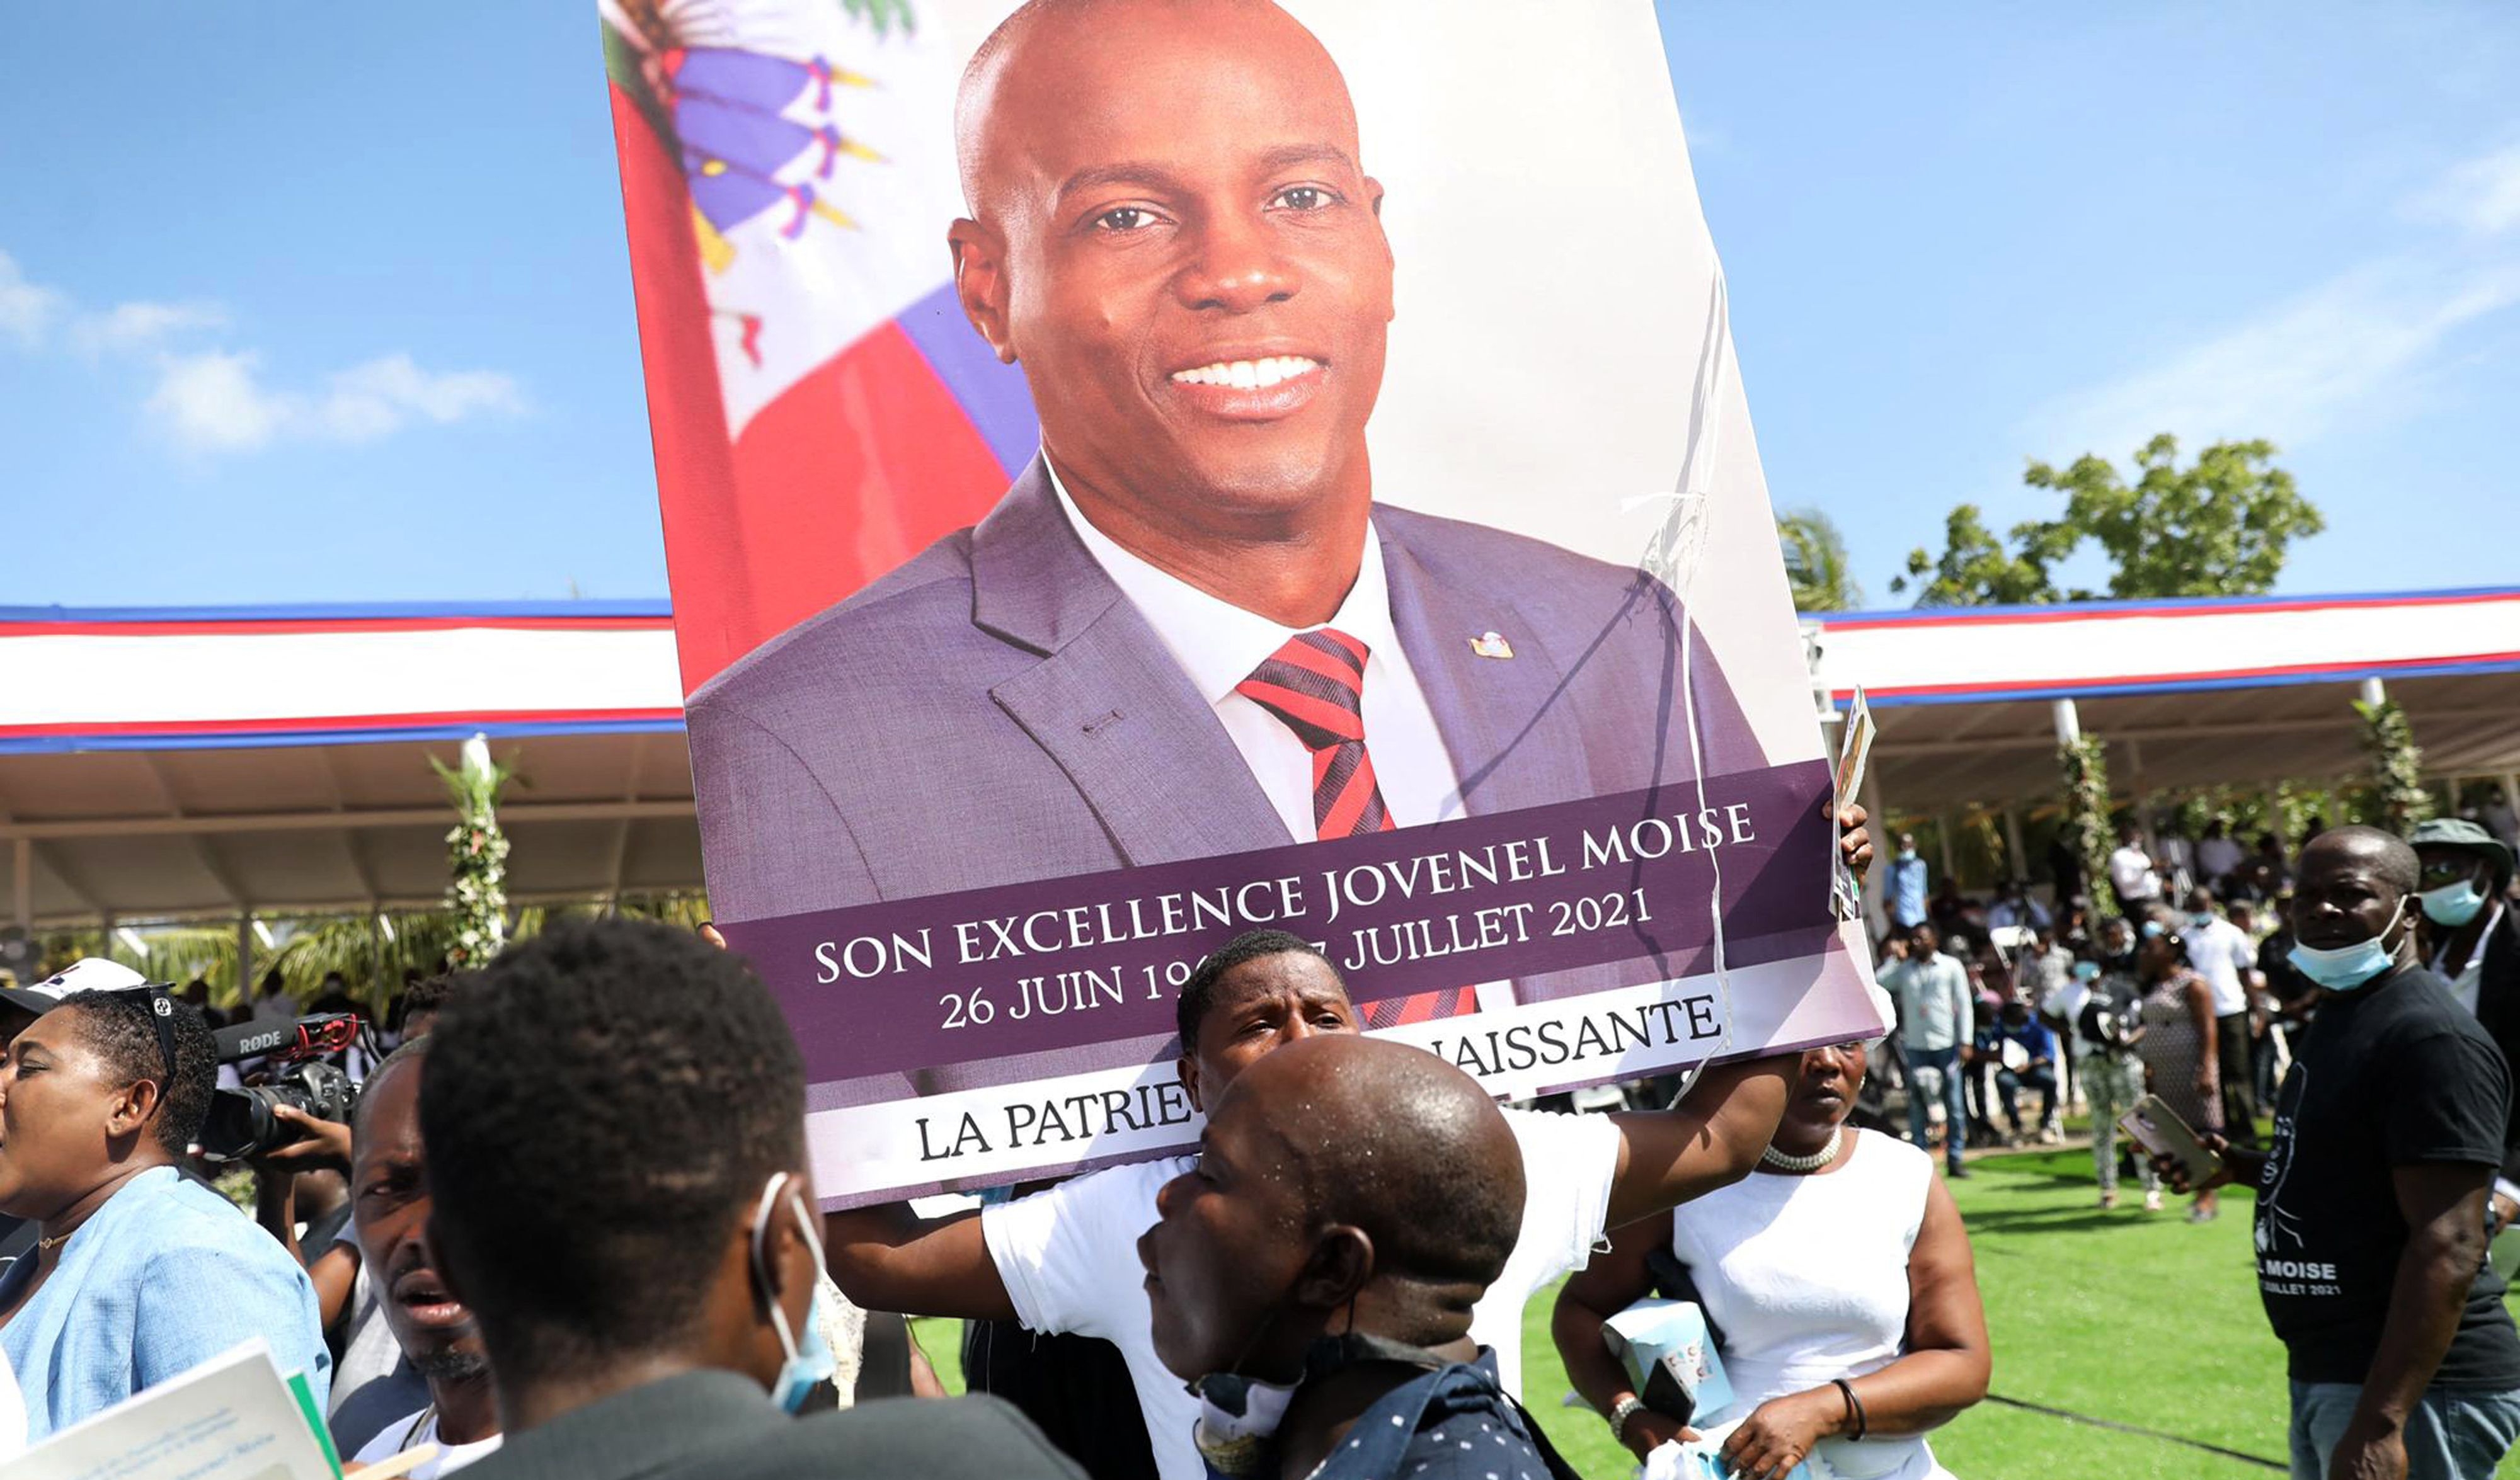
<path fill-rule="evenodd" d="M 2293 1475 L 2470 1480 L 2520 1437 L 2520 1331 L 2485 1266 L 2510 1070 L 2427 972 L 2414 848 L 2301 851 L 2293 964 L 2321 1002 L 2265 1153 L 2205 1135 L 2200 1186 L 2255 1183 L 2258 1299 L 2286 1347 Z M 2187 1170 L 2155 1158 L 2185 1191 Z"/>

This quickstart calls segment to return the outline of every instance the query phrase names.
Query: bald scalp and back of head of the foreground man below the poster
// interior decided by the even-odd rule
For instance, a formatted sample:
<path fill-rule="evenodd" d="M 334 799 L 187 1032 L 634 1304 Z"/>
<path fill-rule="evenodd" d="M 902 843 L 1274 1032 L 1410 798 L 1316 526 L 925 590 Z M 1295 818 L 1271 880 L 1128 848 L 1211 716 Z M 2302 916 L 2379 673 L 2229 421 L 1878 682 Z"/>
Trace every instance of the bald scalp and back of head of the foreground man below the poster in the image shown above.
<path fill-rule="evenodd" d="M 1373 1238 L 1376 1274 L 1487 1286 L 1522 1233 L 1522 1150 L 1497 1102 L 1426 1050 L 1288 1045 L 1235 1080 L 1235 1115 L 1285 1148 L 1313 1226 Z"/>

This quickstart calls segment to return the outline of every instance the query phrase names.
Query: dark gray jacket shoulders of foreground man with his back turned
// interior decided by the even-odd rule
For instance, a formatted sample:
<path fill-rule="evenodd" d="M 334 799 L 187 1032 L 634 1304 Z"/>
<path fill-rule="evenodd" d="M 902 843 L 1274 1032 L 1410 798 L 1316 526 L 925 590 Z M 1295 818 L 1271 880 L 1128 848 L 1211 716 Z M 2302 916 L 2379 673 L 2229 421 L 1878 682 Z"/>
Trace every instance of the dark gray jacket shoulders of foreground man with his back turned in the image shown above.
<path fill-rule="evenodd" d="M 1081 1480 L 993 1397 L 887 1399 L 791 1420 L 733 1372 L 685 1372 L 512 1435 L 476 1480 Z"/>

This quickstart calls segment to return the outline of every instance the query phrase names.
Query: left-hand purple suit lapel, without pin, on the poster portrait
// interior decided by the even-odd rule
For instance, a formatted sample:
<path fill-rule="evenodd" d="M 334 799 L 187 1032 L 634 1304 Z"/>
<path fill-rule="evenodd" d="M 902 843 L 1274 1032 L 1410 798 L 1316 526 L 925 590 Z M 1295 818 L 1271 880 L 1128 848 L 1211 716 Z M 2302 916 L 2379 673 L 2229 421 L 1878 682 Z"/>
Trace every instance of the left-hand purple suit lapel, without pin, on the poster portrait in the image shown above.
<path fill-rule="evenodd" d="M 1041 458 L 973 531 L 973 624 L 1041 654 L 990 690 L 1129 863 L 1290 843 L 1207 700 L 1094 564 Z"/>

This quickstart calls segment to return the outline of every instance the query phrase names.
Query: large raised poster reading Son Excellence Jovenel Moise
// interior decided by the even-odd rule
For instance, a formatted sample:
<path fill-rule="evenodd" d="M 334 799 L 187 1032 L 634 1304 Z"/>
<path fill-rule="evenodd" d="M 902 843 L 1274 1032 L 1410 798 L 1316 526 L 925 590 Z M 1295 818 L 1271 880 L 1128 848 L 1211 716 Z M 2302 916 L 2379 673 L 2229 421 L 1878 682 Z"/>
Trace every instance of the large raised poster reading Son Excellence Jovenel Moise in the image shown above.
<path fill-rule="evenodd" d="M 605 5 L 711 904 L 834 1203 L 1877 1032 L 1651 8 Z M 1850 949 L 1852 946 L 1852 949 Z"/>

